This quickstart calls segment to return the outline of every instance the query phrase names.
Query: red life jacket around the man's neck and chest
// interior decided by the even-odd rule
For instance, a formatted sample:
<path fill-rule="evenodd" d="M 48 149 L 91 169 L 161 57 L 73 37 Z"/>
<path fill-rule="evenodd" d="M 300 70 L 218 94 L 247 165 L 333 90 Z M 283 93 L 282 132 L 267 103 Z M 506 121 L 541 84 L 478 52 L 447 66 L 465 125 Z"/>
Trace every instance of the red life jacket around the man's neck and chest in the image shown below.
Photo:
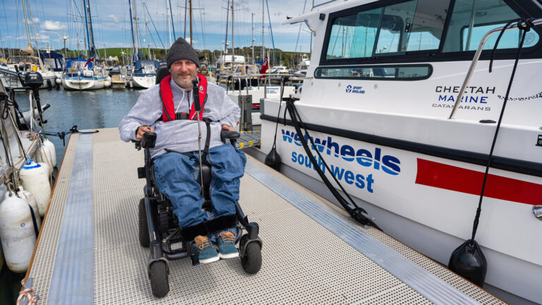
<path fill-rule="evenodd" d="M 200 120 L 203 119 L 203 108 L 205 107 L 205 97 L 207 96 L 207 78 L 198 73 L 199 80 L 199 94 L 200 94 Z M 175 106 L 173 103 L 173 92 L 171 92 L 171 75 L 166 76 L 160 81 L 160 95 L 162 95 L 162 120 L 164 122 L 169 121 L 167 115 L 171 118 L 171 121 L 175 120 Z M 167 112 L 167 114 L 166 114 Z M 196 112 L 194 109 L 194 103 L 192 102 L 192 107 L 190 109 L 190 114 L 188 114 L 188 119 L 195 120 Z"/>

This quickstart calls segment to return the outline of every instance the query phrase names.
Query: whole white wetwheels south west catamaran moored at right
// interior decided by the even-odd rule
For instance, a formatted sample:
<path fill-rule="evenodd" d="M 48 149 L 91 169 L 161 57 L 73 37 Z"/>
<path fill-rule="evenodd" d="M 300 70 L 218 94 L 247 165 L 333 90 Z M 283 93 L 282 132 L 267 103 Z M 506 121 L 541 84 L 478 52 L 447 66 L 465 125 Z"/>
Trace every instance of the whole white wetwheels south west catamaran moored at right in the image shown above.
<path fill-rule="evenodd" d="M 285 22 L 315 31 L 294 103 L 315 140 L 311 153 L 318 148 L 327 177 L 334 174 L 385 233 L 444 265 L 471 238 L 519 31 L 502 36 L 493 73 L 498 33 L 490 37 L 462 90 L 474 51 L 493 28 L 542 16 L 536 1 L 508 3 L 337 1 Z M 541 33 L 540 26 L 526 32 L 475 238 L 487 259 L 484 288 L 513 304 L 542 303 Z M 282 124 L 284 104 L 282 172 L 329 198 L 304 136 Z M 260 158 L 272 148 L 279 102 L 264 105 Z"/>

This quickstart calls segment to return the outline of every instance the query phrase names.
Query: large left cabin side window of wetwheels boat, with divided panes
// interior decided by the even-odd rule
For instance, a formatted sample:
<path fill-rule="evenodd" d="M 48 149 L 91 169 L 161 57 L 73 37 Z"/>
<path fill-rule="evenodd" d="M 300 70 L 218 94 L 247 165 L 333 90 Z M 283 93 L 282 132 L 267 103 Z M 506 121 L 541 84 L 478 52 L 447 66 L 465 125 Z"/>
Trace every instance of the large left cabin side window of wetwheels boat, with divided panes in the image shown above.
<path fill-rule="evenodd" d="M 411 0 L 335 18 L 326 59 L 438 49 L 450 0 Z"/>

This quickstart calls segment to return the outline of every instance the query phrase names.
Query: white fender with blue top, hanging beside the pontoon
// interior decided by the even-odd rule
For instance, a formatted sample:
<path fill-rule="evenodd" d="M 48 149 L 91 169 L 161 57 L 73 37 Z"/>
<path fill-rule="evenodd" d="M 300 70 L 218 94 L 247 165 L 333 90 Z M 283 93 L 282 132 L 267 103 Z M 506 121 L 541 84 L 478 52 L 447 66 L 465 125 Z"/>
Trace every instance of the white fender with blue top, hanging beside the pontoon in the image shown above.
<path fill-rule="evenodd" d="M 49 169 L 28 158 L 25 166 L 20 169 L 19 175 L 23 181 L 23 188 L 36 198 L 37 208 L 40 211 L 40 216 L 43 217 L 49 205 L 49 198 L 51 198 Z"/>

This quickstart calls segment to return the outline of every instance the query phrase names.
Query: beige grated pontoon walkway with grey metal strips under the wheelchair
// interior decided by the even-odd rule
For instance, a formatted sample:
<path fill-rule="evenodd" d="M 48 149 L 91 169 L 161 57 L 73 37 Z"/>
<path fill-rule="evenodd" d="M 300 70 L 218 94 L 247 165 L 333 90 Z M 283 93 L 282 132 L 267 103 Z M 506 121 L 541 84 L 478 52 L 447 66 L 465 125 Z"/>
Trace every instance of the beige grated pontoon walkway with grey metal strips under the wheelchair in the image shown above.
<path fill-rule="evenodd" d="M 138 242 L 143 150 L 99 131 L 68 142 L 28 271 L 39 304 L 503 304 L 249 156 L 239 202 L 260 225 L 260 272 L 171 261 L 157 299 Z"/>

